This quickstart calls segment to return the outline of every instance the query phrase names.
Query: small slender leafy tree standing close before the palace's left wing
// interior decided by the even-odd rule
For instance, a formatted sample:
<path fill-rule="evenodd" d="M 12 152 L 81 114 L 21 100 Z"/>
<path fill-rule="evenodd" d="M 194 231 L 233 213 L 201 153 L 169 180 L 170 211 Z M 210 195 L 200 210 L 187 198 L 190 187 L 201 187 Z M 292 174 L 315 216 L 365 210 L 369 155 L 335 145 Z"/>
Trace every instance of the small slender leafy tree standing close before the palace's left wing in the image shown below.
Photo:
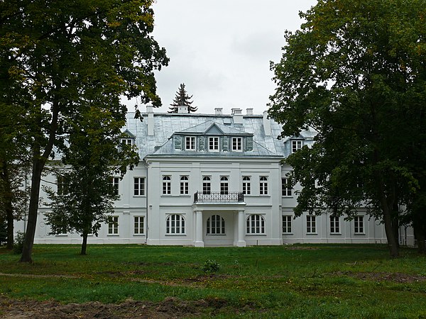
<path fill-rule="evenodd" d="M 90 106 L 70 123 L 63 149 L 65 167 L 58 170 L 58 191 L 46 189 L 51 207 L 46 218 L 52 234 L 80 233 L 81 254 L 86 254 L 87 236 L 97 235 L 119 198 L 111 178 L 123 177 L 127 167 L 138 164 L 139 157 L 134 145 L 121 144 L 125 118 L 102 103 Z"/>

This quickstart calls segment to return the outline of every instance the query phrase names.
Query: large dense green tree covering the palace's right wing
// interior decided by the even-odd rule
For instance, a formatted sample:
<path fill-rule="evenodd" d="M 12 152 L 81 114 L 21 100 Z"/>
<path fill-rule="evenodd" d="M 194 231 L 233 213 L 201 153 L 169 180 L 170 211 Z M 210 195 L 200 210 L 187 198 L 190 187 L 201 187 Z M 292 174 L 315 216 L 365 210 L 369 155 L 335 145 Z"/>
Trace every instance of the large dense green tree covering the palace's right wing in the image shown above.
<path fill-rule="evenodd" d="M 269 110 L 282 136 L 317 130 L 312 148 L 285 160 L 302 186 L 295 214 L 366 206 L 397 257 L 398 205 L 419 186 L 410 154 L 425 139 L 426 2 L 320 0 L 300 16 L 271 65 Z"/>

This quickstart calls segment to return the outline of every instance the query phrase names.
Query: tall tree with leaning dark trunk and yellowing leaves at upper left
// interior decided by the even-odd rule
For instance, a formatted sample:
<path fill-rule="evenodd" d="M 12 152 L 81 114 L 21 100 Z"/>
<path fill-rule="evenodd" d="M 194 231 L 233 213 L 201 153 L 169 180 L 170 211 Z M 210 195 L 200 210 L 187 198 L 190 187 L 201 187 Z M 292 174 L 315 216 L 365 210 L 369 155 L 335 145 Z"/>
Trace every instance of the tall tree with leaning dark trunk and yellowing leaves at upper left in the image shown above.
<path fill-rule="evenodd" d="M 160 106 L 154 69 L 167 65 L 152 38 L 151 0 L 0 1 L 0 77 L 26 96 L 32 173 L 28 223 L 21 262 L 31 262 L 40 178 L 65 118 L 78 113 L 87 91 L 109 97 L 140 96 Z M 91 93 L 89 93 L 91 94 Z M 22 100 L 22 99 L 21 99 Z M 11 101 L 13 103 L 13 101 Z"/>

